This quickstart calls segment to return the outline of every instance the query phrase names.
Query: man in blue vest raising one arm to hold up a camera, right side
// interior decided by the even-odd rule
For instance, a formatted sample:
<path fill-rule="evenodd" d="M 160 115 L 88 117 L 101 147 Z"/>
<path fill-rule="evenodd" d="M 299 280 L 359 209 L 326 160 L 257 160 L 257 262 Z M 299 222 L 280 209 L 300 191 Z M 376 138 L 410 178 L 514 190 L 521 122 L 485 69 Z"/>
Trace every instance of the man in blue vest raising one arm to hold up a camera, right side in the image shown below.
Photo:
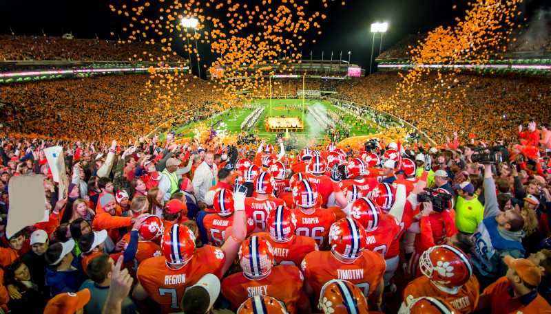
<path fill-rule="evenodd" d="M 481 289 L 506 274 L 505 256 L 523 258 L 525 254 L 521 243 L 524 218 L 516 210 L 499 211 L 491 164 L 484 164 L 484 194 L 484 219 L 471 236 L 475 249 L 469 254 Z"/>

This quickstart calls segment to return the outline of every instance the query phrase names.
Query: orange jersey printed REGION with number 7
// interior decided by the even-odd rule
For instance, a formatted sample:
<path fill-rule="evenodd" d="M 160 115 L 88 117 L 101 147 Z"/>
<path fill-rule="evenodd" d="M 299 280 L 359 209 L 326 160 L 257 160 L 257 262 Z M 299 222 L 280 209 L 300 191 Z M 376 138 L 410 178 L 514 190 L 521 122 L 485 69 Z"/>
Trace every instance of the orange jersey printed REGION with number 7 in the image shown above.
<path fill-rule="evenodd" d="M 222 279 L 225 261 L 222 249 L 206 245 L 196 249 L 194 256 L 180 269 L 169 268 L 165 256 L 144 260 L 138 267 L 138 280 L 147 294 L 160 304 L 163 313 L 180 312 L 180 299 L 185 289 L 207 273 Z"/>

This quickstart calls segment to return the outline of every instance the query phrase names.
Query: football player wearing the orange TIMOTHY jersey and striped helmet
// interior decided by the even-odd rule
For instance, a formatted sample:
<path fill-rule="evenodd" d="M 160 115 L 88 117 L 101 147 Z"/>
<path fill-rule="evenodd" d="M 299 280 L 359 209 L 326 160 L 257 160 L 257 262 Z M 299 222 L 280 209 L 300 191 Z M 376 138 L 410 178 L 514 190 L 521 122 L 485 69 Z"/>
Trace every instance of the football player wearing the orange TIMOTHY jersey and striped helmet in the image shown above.
<path fill-rule="evenodd" d="M 370 309 L 378 309 L 386 265 L 381 254 L 364 249 L 364 227 L 353 218 L 333 223 L 329 232 L 329 245 L 331 251 L 313 251 L 302 260 L 300 267 L 306 279 L 306 294 L 318 298 L 326 282 L 333 279 L 348 280 L 362 290 Z"/>

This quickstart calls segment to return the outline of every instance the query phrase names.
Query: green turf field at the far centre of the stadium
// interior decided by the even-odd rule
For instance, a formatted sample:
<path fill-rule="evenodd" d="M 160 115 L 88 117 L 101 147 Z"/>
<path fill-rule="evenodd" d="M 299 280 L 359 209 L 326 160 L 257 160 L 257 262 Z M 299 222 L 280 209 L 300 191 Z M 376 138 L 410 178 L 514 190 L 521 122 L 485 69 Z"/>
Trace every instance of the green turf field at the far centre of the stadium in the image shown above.
<path fill-rule="evenodd" d="M 262 99 L 262 100 L 255 100 L 253 103 L 259 104 L 259 105 L 264 106 L 266 108 L 264 110 L 264 115 L 262 117 L 260 117 L 260 120 L 258 120 L 258 122 L 256 123 L 256 128 L 258 129 L 258 136 L 259 137 L 263 137 L 263 138 L 269 139 L 271 141 L 275 138 L 275 132 L 267 132 L 266 129 L 264 128 L 264 119 L 265 119 L 265 117 L 270 116 L 269 102 L 270 102 L 269 99 Z M 336 109 L 335 106 L 333 106 L 332 104 L 330 104 L 329 102 L 326 102 L 326 101 L 318 102 L 318 101 L 304 100 L 304 106 L 306 106 L 306 105 L 312 106 L 315 103 L 322 104 L 322 106 L 324 106 L 327 110 L 331 110 L 331 111 L 338 110 L 338 109 Z M 271 100 L 271 104 L 272 104 L 271 115 L 274 116 L 274 117 L 275 116 L 280 116 L 280 115 L 287 115 L 287 116 L 291 116 L 291 117 L 300 117 L 300 119 L 305 124 L 305 128 L 304 128 L 303 133 L 298 133 L 299 137 L 303 136 L 304 139 L 309 139 L 315 133 L 319 133 L 320 135 L 318 136 L 318 140 L 321 140 L 323 138 L 323 135 L 322 135 L 323 133 L 321 131 L 319 131 L 318 128 L 317 128 L 317 123 L 315 123 L 315 121 L 309 119 L 309 117 L 307 116 L 308 113 L 306 113 L 306 112 L 304 113 L 304 119 L 303 119 L 302 112 L 300 111 L 300 109 L 298 109 L 298 110 L 291 109 L 290 113 L 287 111 L 287 109 L 284 109 L 284 106 L 286 104 L 287 104 L 287 106 L 292 106 L 293 104 L 302 104 L 302 99 L 283 99 L 283 100 L 273 99 L 273 100 Z M 220 121 L 220 118 L 222 118 L 222 121 L 227 124 L 227 131 L 231 132 L 231 134 L 240 133 L 241 132 L 241 123 L 243 122 L 243 120 L 245 120 L 245 117 L 247 117 L 251 112 L 253 112 L 253 109 L 231 109 L 230 111 L 227 111 L 227 112 L 223 113 L 222 115 L 219 115 L 218 117 L 214 117 L 214 119 L 204 121 L 204 123 L 207 124 L 207 126 L 208 126 L 209 124 L 213 124 L 213 123 L 216 123 L 216 122 Z M 350 121 L 351 117 L 347 117 L 346 120 Z M 346 122 L 350 125 L 355 123 L 355 120 L 352 121 L 352 122 L 349 122 L 349 121 L 346 121 Z M 193 129 L 194 125 L 195 125 L 195 123 L 187 124 L 185 126 L 179 126 L 179 127 L 173 128 L 171 131 L 175 131 L 176 134 L 182 133 L 182 132 L 185 132 L 185 131 L 189 130 L 190 126 L 191 126 L 191 129 Z M 375 132 L 375 128 L 370 129 L 370 128 L 366 128 L 364 126 L 364 128 L 362 128 L 360 130 L 360 126 L 357 125 L 357 126 L 352 127 L 351 132 L 350 132 L 351 133 L 350 136 L 351 137 L 354 136 L 353 133 L 355 135 L 369 135 L 369 134 L 372 134 L 374 132 Z M 192 132 L 189 133 L 189 135 L 187 135 L 187 137 L 191 137 L 191 136 L 194 136 L 194 134 Z M 161 139 L 163 139 L 164 137 L 165 137 L 164 135 L 160 135 Z"/>

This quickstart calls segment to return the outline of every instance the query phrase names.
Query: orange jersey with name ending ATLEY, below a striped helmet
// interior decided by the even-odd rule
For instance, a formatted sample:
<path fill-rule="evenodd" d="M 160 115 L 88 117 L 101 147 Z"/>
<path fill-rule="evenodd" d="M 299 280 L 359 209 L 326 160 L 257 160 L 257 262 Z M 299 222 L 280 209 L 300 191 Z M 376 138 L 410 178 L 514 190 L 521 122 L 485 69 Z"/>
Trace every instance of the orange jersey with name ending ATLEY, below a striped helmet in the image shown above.
<path fill-rule="evenodd" d="M 277 265 L 295 265 L 300 266 L 302 259 L 306 254 L 318 251 L 318 245 L 315 240 L 309 236 L 293 236 L 287 242 L 278 242 L 270 238 L 268 232 L 251 234 L 251 236 L 260 236 L 267 240 L 273 249 L 273 260 Z"/>

